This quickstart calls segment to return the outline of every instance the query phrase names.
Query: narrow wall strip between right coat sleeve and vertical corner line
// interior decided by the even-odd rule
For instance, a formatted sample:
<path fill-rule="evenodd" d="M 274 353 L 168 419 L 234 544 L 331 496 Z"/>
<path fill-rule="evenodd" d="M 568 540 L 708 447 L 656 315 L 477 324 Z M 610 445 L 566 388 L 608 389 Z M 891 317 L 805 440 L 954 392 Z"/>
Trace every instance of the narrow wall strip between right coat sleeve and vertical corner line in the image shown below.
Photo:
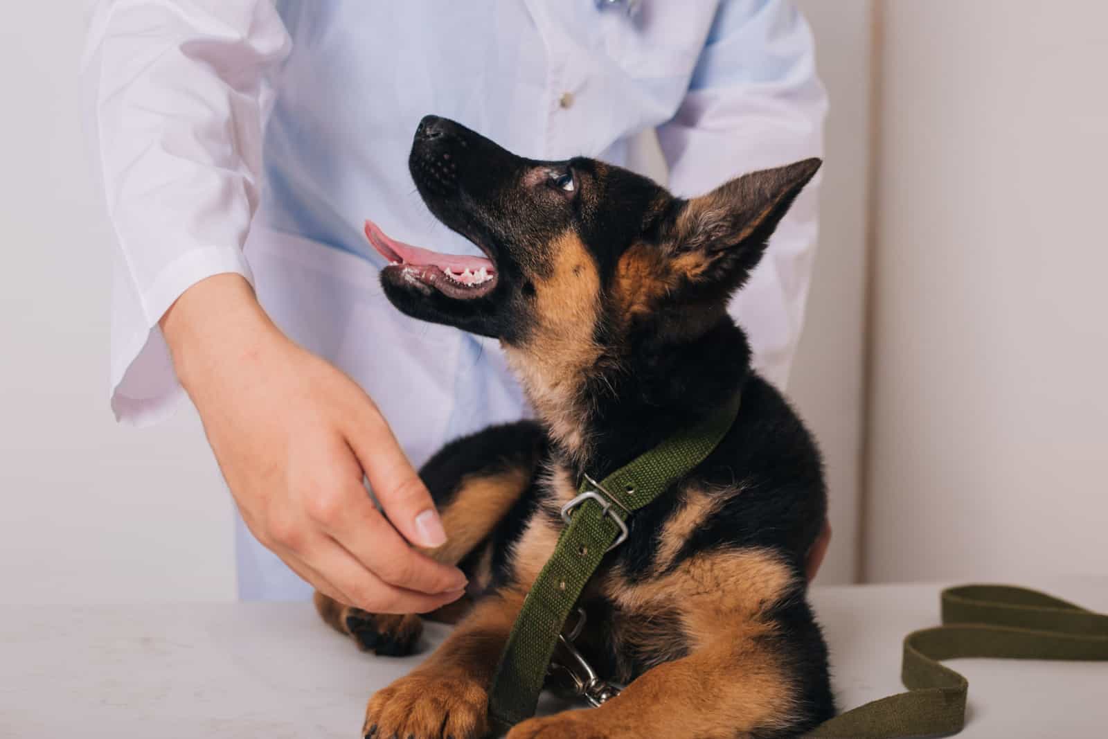
<path fill-rule="evenodd" d="M 819 439 L 833 536 L 819 582 L 855 582 L 870 170 L 870 0 L 801 0 L 831 107 L 820 194 L 820 243 L 789 394 Z"/>

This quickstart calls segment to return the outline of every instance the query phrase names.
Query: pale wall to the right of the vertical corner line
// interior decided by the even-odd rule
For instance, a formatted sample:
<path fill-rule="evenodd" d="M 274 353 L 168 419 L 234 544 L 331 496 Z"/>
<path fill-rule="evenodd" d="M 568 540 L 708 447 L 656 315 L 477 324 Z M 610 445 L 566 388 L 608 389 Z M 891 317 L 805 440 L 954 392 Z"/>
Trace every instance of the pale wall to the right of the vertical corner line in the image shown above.
<path fill-rule="evenodd" d="M 883 2 L 865 574 L 1108 573 L 1108 3 Z"/>

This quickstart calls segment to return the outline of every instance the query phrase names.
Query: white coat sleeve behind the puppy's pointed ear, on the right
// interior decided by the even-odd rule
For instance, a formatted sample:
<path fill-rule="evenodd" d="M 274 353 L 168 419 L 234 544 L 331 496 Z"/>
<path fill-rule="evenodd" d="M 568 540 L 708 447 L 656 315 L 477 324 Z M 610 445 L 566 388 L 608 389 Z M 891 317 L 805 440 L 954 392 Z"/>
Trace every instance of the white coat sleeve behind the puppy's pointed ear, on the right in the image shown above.
<path fill-rule="evenodd" d="M 669 186 L 700 195 L 748 172 L 822 156 L 827 96 L 807 21 L 782 0 L 725 0 L 673 121 L 658 130 Z M 783 388 L 804 316 L 819 176 L 778 226 L 730 312 L 756 369 Z"/>

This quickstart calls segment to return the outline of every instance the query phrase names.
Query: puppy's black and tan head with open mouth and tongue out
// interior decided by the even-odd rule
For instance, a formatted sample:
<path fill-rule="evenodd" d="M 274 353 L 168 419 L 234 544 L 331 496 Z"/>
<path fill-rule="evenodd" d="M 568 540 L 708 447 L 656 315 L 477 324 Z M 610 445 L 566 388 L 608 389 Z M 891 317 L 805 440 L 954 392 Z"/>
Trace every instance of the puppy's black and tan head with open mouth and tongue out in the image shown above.
<path fill-rule="evenodd" d="M 367 233 L 393 261 L 381 276 L 393 305 L 501 339 L 540 404 L 535 393 L 618 363 L 636 335 L 679 342 L 725 320 L 728 298 L 819 166 L 806 160 L 681 199 L 619 167 L 524 158 L 427 116 L 412 178 L 428 208 L 486 258 Z"/>

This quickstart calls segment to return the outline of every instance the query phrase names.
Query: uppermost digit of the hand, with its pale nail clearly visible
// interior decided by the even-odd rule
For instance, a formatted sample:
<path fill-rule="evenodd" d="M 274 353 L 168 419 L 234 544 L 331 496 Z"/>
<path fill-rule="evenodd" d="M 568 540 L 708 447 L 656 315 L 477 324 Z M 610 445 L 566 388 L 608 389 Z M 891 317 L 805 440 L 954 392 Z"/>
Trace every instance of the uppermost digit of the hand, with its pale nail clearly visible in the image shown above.
<path fill-rule="evenodd" d="M 348 441 L 369 478 L 373 494 L 403 537 L 428 548 L 444 544 L 447 532 L 434 510 L 431 493 L 376 408 L 355 421 Z"/>

